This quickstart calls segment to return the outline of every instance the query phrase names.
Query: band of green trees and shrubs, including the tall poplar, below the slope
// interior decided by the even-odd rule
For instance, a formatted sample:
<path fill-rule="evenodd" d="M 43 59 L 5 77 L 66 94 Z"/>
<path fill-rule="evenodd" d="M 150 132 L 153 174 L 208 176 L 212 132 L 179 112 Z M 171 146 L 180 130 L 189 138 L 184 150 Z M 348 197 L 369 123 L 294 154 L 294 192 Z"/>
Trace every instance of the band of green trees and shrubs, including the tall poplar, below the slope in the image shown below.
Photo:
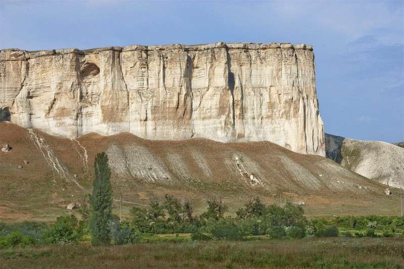
<path fill-rule="evenodd" d="M 93 190 L 88 202 L 83 202 L 79 208 L 80 221 L 71 214 L 58 217 L 51 226 L 27 222 L 13 229 L 0 223 L 0 248 L 37 243 L 67 244 L 82 240 L 85 235 L 91 236 L 93 245 L 120 245 L 133 244 L 153 234 L 190 233 L 192 240 L 241 240 L 246 236 L 265 235 L 273 239 L 334 237 L 340 234 L 338 227 L 344 236 L 404 234 L 402 217 L 346 216 L 333 221 L 308 220 L 300 205 L 290 202 L 284 206 L 265 205 L 259 197 L 247 201 L 236 211 L 235 217 L 230 217 L 226 216 L 228 206 L 221 199 L 207 200 L 206 210 L 197 215 L 189 201 L 166 194 L 160 201 L 152 199 L 147 208 L 133 206 L 130 218 L 120 222 L 112 213 L 110 179 L 108 156 L 98 153 L 94 160 Z"/>

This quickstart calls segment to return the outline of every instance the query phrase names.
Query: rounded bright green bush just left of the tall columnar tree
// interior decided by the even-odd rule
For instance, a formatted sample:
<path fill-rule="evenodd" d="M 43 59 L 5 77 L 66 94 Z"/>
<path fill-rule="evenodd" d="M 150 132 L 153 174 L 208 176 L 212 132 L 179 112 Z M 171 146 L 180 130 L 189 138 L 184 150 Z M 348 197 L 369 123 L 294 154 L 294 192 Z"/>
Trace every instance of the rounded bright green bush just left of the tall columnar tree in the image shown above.
<path fill-rule="evenodd" d="M 77 218 L 71 214 L 58 217 L 56 223 L 46 231 L 44 241 L 52 244 L 67 244 L 77 242 L 81 236 L 81 226 Z"/>

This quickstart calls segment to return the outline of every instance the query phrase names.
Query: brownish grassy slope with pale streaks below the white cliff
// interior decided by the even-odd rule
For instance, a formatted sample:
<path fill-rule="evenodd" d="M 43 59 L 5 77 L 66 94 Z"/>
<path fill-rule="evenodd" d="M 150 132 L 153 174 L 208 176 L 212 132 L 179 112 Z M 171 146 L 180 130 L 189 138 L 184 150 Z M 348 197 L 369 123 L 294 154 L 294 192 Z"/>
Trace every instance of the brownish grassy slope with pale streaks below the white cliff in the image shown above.
<path fill-rule="evenodd" d="M 199 213 L 205 209 L 206 199 L 221 196 L 233 213 L 248 198 L 260 196 L 265 203 L 278 203 L 282 193 L 289 200 L 305 201 L 304 208 L 309 216 L 398 214 L 400 209 L 398 192 L 385 196 L 384 185 L 352 173 L 327 158 L 294 153 L 270 142 L 151 141 L 131 134 L 108 137 L 89 134 L 77 139 L 88 154 L 87 169 L 84 151 L 77 142 L 35 131 L 45 139 L 69 174 L 78 175 L 74 180 L 85 189 L 83 191 L 51 169 L 26 129 L 0 123 L 0 130 L 0 145 L 9 143 L 13 147 L 10 152 L 0 152 L 1 221 L 49 221 L 69 212 L 64 208 L 67 203 L 83 197 L 91 189 L 94 155 L 110 150 L 112 145 L 122 151 L 116 156 L 124 160 L 115 162 L 122 166 L 122 171 L 113 170 L 114 197 L 122 193 L 124 200 L 140 204 L 171 193 L 191 200 L 195 212 Z M 159 172 L 157 165 L 148 162 L 139 149 L 145 149 L 158 160 L 169 180 L 150 182 L 146 176 L 133 175 L 136 169 L 144 174 Z M 241 157 L 246 175 L 237 170 L 235 156 Z M 29 164 L 25 165 L 24 159 Z M 128 164 L 133 165 L 132 171 Z M 18 165 L 23 168 L 19 169 Z M 254 174 L 261 184 L 252 184 L 249 174 Z M 131 206 L 123 203 L 124 217 Z"/>

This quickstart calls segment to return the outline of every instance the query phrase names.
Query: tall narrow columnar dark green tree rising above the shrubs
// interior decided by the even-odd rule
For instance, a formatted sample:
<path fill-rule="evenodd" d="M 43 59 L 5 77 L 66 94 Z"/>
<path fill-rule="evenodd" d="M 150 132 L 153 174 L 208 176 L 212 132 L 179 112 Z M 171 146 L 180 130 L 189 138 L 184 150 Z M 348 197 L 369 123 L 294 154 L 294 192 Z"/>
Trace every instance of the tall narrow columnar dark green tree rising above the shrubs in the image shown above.
<path fill-rule="evenodd" d="M 98 153 L 94 160 L 95 178 L 90 196 L 90 230 L 93 244 L 108 244 L 110 238 L 109 223 L 112 209 L 111 170 L 105 152 Z"/>

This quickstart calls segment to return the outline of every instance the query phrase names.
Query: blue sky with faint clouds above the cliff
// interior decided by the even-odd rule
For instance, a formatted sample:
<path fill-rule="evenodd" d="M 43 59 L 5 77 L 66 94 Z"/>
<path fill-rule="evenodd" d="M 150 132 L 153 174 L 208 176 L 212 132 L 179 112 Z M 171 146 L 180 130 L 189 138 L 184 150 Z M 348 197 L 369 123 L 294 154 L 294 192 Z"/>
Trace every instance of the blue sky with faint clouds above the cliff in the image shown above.
<path fill-rule="evenodd" d="M 291 42 L 314 46 L 327 133 L 404 140 L 404 2 L 0 0 L 0 48 Z"/>

